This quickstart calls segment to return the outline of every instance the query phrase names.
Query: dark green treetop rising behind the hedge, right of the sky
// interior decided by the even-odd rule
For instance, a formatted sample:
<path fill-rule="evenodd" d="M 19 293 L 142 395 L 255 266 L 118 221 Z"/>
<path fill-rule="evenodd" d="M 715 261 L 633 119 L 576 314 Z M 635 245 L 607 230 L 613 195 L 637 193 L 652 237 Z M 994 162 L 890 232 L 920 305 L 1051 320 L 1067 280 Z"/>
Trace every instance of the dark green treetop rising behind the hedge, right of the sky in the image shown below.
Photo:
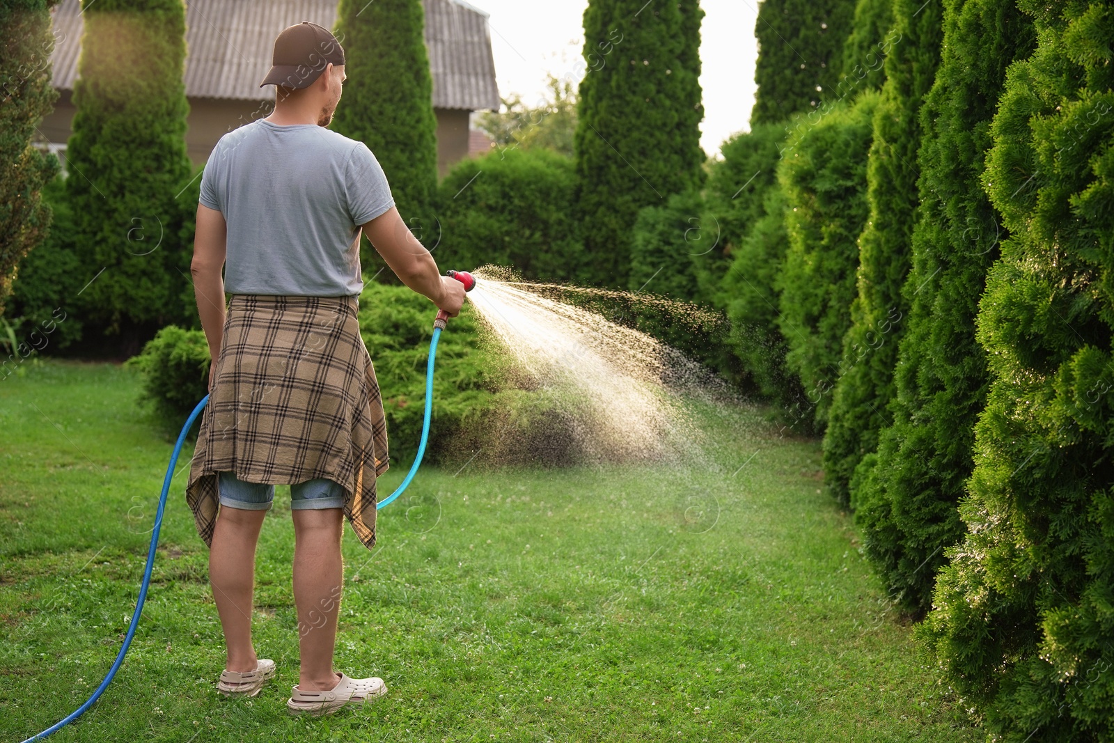
<path fill-rule="evenodd" d="M 854 0 L 763 0 L 759 4 L 752 125 L 811 111 L 836 89 L 854 6 Z"/>

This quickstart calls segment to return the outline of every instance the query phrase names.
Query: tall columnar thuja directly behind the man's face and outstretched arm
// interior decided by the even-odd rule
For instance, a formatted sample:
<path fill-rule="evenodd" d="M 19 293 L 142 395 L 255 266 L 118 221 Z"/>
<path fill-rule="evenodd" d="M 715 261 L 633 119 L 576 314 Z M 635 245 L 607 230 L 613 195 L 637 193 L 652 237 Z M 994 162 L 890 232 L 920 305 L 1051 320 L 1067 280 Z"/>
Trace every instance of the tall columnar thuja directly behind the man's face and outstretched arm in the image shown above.
<path fill-rule="evenodd" d="M 437 117 L 421 0 L 341 0 L 344 95 L 329 128 L 375 154 L 410 231 L 436 239 Z M 364 241 L 363 265 L 378 256 Z"/>

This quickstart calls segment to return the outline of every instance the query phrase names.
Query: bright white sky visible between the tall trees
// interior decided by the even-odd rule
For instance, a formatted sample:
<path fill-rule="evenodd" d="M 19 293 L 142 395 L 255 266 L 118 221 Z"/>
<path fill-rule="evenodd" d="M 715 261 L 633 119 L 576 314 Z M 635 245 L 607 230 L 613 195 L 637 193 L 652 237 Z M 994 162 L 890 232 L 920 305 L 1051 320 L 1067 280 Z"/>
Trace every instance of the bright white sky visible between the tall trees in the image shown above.
<path fill-rule="evenodd" d="M 651 0 L 661 2 L 663 0 Z M 579 80 L 587 0 L 468 0 L 489 14 L 499 95 L 517 92 L 527 104 L 543 97 L 546 74 Z M 709 155 L 724 139 L 750 129 L 754 105 L 754 21 L 758 0 L 701 0 L 701 146 Z"/>

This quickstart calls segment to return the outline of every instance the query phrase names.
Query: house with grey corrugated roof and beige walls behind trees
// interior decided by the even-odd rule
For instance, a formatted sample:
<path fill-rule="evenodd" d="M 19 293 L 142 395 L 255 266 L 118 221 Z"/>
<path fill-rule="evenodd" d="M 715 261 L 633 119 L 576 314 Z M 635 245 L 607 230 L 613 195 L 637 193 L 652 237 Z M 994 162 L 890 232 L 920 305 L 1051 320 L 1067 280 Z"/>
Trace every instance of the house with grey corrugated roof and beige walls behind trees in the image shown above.
<path fill-rule="evenodd" d="M 453 163 L 469 156 L 472 111 L 497 110 L 499 90 L 487 13 L 462 0 L 422 0 L 422 4 L 437 115 L 437 164 L 444 175 Z M 51 12 L 52 81 L 60 95 L 40 133 L 43 144 L 65 162 L 84 23 L 78 0 L 62 0 Z M 331 29 L 335 20 L 336 0 L 187 0 L 186 144 L 190 160 L 204 163 L 226 131 L 271 113 L 274 87 L 258 86 L 271 68 L 280 31 L 301 21 Z"/>

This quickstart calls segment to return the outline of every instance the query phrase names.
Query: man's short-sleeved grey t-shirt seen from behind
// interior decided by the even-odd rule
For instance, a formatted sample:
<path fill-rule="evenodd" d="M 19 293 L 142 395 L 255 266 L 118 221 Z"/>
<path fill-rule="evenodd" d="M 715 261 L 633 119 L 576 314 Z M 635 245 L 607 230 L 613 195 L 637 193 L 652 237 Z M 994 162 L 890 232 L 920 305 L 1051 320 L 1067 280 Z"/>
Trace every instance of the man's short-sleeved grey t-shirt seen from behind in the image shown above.
<path fill-rule="evenodd" d="M 360 225 L 394 199 L 362 141 L 257 119 L 221 137 L 201 203 L 228 225 L 229 294 L 351 296 L 363 290 Z"/>

